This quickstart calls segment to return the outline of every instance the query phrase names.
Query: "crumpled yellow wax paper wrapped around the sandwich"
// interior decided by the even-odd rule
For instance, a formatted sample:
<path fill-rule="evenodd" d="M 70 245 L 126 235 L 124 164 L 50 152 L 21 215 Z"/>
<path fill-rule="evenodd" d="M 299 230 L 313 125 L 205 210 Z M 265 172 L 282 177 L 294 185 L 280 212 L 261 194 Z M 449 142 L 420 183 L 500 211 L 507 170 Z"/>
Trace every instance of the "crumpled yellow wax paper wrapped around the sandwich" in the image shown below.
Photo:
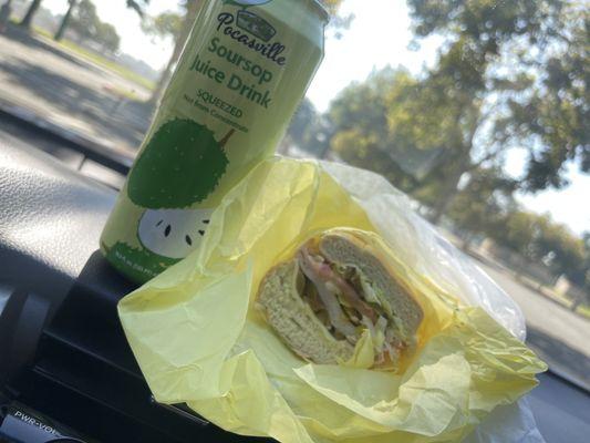
<path fill-rule="evenodd" d="M 261 163 L 222 200 L 198 251 L 121 301 L 149 388 L 158 402 L 187 403 L 228 431 L 286 443 L 460 441 L 496 406 L 532 389 L 546 365 L 482 307 L 443 289 L 453 281 L 422 270 L 448 264 L 410 266 L 408 254 L 421 249 L 412 226 L 385 231 L 403 226 L 398 208 L 380 209 L 375 228 L 346 174 L 329 169 L 308 161 Z M 374 185 L 389 192 L 376 178 Z M 363 186 L 373 192 L 371 183 Z M 308 363 L 253 309 L 272 266 L 311 233 L 342 226 L 395 234 L 407 249 L 416 241 L 403 251 L 386 241 L 396 257 L 387 265 L 425 311 L 418 349 L 402 373 L 363 369 L 362 356 L 356 367 Z"/>

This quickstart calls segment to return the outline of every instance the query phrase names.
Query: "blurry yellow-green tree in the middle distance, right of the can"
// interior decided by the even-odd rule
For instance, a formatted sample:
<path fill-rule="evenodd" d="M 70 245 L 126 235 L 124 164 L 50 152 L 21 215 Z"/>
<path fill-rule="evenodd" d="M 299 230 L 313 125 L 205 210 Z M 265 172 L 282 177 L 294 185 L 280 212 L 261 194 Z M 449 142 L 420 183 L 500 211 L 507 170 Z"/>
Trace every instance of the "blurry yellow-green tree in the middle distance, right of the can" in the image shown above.
<path fill-rule="evenodd" d="M 331 148 L 345 162 L 374 171 L 406 193 L 439 163 L 438 116 L 432 110 L 412 111 L 418 82 L 403 69 L 376 71 L 353 83 L 329 110 Z M 425 203 L 428 198 L 418 196 Z"/>

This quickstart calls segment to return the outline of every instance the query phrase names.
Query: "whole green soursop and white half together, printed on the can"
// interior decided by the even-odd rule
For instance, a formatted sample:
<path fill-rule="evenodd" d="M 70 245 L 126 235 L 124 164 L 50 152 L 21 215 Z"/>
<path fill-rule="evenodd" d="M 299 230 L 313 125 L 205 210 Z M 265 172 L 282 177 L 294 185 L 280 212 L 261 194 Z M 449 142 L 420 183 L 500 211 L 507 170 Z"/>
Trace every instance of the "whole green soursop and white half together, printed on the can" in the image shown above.
<path fill-rule="evenodd" d="M 204 202 L 226 172 L 221 141 L 205 125 L 175 119 L 159 127 L 133 167 L 127 194 L 145 207 L 137 237 L 157 258 L 182 259 L 205 235 L 213 209 L 190 209 Z"/>

